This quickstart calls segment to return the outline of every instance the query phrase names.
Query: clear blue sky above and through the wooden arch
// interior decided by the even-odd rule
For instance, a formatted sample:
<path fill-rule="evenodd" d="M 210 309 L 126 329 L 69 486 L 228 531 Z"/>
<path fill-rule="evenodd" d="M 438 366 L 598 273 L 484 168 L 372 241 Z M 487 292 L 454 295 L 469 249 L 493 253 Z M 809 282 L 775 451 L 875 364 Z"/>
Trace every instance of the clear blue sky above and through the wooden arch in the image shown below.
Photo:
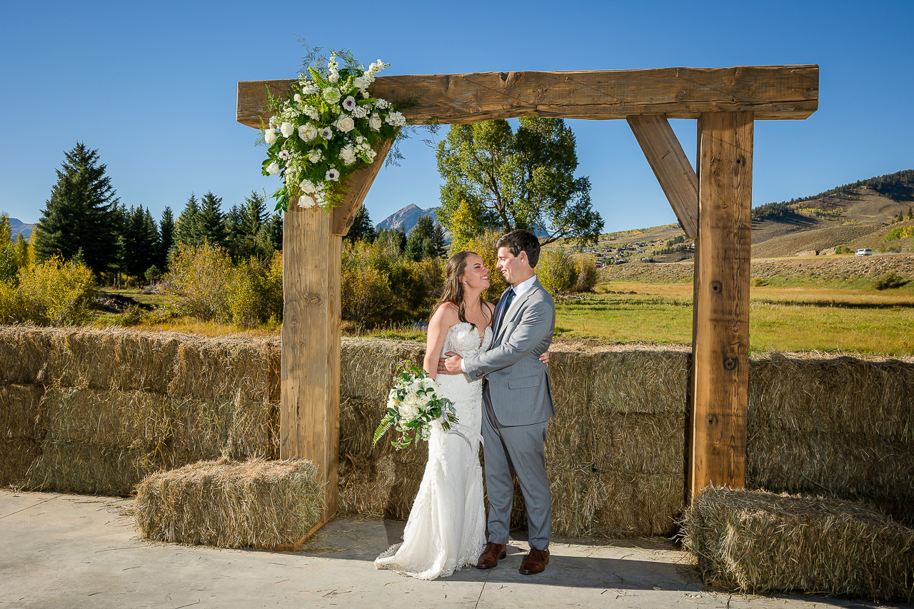
<path fill-rule="evenodd" d="M 237 81 L 294 78 L 298 36 L 383 59 L 382 75 L 817 63 L 812 117 L 756 122 L 753 205 L 914 168 L 909 0 L 436 6 L 0 2 L 0 211 L 37 221 L 77 141 L 98 149 L 123 203 L 155 218 L 166 205 L 178 215 L 191 193 L 211 190 L 224 209 L 270 193 L 265 149 L 235 122 Z M 694 163 L 695 121 L 672 123 Z M 606 231 L 675 221 L 624 121 L 569 124 Z M 418 140 L 402 151 L 366 199 L 375 222 L 409 203 L 438 205 L 434 151 Z"/>

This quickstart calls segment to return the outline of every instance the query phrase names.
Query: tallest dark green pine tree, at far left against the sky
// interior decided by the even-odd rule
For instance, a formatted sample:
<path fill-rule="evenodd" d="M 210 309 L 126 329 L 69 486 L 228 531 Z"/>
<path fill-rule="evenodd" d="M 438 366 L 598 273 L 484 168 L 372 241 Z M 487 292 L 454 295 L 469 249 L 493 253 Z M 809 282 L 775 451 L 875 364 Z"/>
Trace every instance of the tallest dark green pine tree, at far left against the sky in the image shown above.
<path fill-rule="evenodd" d="M 114 214 L 119 199 L 105 175 L 107 166 L 99 164 L 98 150 L 77 142 L 65 155 L 37 222 L 37 259 L 59 255 L 71 260 L 81 250 L 86 266 L 101 273 L 117 259 Z"/>

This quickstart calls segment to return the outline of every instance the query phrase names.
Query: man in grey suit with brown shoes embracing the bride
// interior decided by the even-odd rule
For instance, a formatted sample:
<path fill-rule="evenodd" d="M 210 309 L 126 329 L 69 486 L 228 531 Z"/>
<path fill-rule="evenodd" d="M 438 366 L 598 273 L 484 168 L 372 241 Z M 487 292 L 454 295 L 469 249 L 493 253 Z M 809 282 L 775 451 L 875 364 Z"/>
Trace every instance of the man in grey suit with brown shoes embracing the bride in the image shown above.
<path fill-rule="evenodd" d="M 549 562 L 552 497 L 544 443 L 549 417 L 556 411 L 539 356 L 552 342 L 556 305 L 534 271 L 539 260 L 535 234 L 514 230 L 502 236 L 495 248 L 495 266 L 511 287 L 495 306 L 492 345 L 473 358 L 453 355 L 441 363 L 451 374 L 464 372 L 473 380 L 483 379 L 489 542 L 476 566 L 491 569 L 507 555 L 516 473 L 526 503 L 530 544 L 520 572 L 531 574 L 542 572 Z"/>

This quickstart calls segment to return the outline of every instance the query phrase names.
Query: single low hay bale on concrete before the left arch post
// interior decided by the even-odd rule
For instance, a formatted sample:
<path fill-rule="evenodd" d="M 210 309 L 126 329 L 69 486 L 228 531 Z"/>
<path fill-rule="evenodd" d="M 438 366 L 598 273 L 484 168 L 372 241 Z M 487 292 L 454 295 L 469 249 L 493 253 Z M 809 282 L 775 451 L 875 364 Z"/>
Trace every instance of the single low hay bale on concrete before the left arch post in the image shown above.
<path fill-rule="evenodd" d="M 323 497 L 310 461 L 220 459 L 143 479 L 134 515 L 147 540 L 275 547 L 308 534 L 324 508 Z"/>

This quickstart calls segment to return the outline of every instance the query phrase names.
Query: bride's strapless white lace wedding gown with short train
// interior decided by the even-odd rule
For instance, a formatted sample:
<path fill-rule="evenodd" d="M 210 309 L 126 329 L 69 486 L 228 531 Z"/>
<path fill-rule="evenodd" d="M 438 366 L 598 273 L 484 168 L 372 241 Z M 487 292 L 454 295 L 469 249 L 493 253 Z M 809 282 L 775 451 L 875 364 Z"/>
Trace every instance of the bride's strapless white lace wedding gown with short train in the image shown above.
<path fill-rule="evenodd" d="M 492 328 L 462 322 L 451 326 L 441 354 L 452 351 L 464 358 L 477 355 L 492 341 Z M 445 432 L 432 422 L 429 462 L 419 493 L 409 512 L 403 542 L 375 560 L 378 569 L 390 569 L 420 580 L 447 577 L 473 565 L 485 546 L 483 471 L 479 442 L 483 425 L 483 383 L 466 375 L 438 375 L 442 397 L 454 402 L 459 428 Z M 459 431 L 459 433 L 458 433 Z"/>

